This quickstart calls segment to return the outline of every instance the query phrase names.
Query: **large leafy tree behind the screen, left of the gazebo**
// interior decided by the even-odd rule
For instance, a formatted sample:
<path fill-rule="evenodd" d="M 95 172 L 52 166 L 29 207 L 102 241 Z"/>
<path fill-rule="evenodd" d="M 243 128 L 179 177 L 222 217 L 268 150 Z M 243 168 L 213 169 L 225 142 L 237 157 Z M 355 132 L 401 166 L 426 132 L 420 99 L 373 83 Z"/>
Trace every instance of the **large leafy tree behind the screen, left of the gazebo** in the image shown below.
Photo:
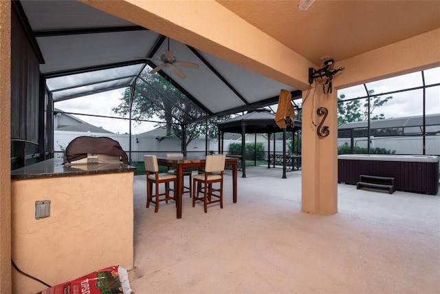
<path fill-rule="evenodd" d="M 182 122 L 190 121 L 206 115 L 188 97 L 168 83 L 159 74 L 142 72 L 137 78 L 131 109 L 133 120 L 151 120 L 158 118 L 164 123 L 157 123 L 156 127 L 166 127 L 166 136 L 176 137 L 182 140 Z M 126 88 L 120 98 L 120 105 L 113 107 L 115 114 L 127 116 L 129 114 L 130 90 Z M 199 136 L 208 133 L 208 138 L 217 138 L 218 129 L 216 124 L 230 119 L 230 116 L 210 118 L 208 123 L 192 123 L 186 126 L 186 146 Z M 157 120 L 157 119 L 156 119 Z"/>

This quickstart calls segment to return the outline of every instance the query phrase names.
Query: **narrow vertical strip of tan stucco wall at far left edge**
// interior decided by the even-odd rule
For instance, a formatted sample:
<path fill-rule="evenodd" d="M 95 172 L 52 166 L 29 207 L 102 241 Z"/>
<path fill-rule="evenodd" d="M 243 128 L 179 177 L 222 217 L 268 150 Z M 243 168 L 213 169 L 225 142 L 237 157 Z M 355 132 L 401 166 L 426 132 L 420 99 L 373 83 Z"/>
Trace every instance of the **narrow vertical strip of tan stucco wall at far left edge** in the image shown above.
<path fill-rule="evenodd" d="M 11 293 L 10 7 L 10 1 L 0 1 L 0 293 Z"/>

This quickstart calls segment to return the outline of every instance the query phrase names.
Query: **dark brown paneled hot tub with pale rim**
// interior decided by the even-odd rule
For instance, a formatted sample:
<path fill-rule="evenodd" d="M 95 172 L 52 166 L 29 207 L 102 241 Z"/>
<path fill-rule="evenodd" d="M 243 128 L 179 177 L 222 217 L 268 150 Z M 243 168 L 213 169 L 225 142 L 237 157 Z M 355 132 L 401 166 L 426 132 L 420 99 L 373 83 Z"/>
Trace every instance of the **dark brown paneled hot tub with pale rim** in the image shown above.
<path fill-rule="evenodd" d="M 355 185 L 360 175 L 395 178 L 396 189 L 436 195 L 439 156 L 347 154 L 338 156 L 338 182 Z"/>

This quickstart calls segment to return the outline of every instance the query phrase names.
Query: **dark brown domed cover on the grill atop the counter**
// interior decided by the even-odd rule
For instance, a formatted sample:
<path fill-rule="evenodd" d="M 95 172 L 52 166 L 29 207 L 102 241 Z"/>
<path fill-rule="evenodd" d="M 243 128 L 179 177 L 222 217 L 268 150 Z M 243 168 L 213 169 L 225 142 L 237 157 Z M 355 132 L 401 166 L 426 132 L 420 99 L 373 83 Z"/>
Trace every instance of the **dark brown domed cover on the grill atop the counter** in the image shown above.
<path fill-rule="evenodd" d="M 109 156 L 120 156 L 125 165 L 129 164 L 128 156 L 122 150 L 118 141 L 109 137 L 81 136 L 74 138 L 67 145 L 64 153 L 64 163 L 87 158 L 87 154 L 104 154 Z"/>

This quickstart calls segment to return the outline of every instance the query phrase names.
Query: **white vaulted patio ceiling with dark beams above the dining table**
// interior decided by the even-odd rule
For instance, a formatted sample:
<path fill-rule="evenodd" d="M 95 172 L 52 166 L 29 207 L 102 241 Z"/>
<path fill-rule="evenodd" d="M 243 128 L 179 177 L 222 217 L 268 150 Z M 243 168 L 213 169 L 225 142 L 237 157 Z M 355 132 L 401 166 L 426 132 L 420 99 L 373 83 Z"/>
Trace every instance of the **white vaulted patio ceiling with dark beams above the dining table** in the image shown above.
<path fill-rule="evenodd" d="M 21 1 L 21 6 L 45 61 L 41 73 L 55 102 L 128 87 L 146 64 L 162 64 L 135 59 L 160 59 L 168 46 L 162 34 L 78 1 Z M 294 87 L 184 43 L 170 39 L 169 46 L 179 61 L 200 68 L 180 67 L 184 79 L 169 70 L 159 74 L 186 94 L 203 117 L 274 104 L 283 88 L 300 97 Z"/>

